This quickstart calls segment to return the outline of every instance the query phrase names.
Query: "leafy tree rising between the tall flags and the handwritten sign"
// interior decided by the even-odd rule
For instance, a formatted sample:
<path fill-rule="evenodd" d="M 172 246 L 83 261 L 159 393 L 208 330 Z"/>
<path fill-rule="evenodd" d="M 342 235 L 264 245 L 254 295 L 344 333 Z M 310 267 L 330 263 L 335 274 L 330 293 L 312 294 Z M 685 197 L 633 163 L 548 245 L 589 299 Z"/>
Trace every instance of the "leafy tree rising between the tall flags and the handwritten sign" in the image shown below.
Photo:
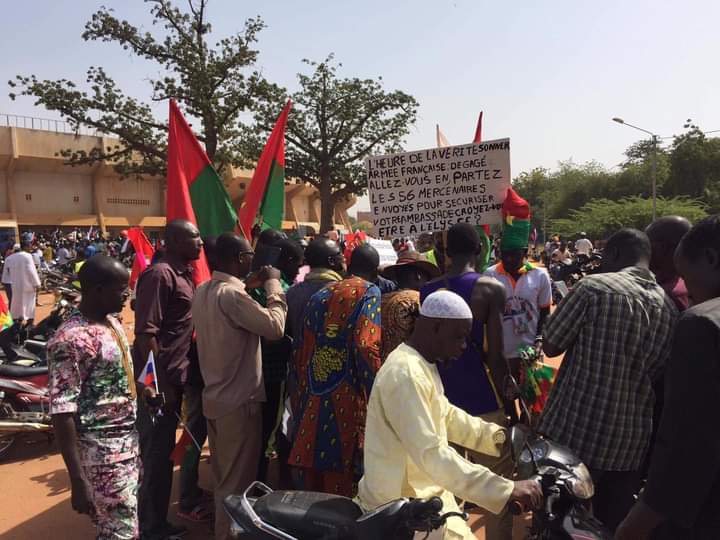
<path fill-rule="evenodd" d="M 340 78 L 333 55 L 322 62 L 304 60 L 312 73 L 298 74 L 299 88 L 275 87 L 272 99 L 256 108 L 255 126 L 246 130 L 247 154 L 257 159 L 267 133 L 289 98 L 286 174 L 320 192 L 320 231 L 332 229 L 337 201 L 367 189 L 363 160 L 401 150 L 417 115 L 415 98 L 386 91 L 382 78 Z"/>

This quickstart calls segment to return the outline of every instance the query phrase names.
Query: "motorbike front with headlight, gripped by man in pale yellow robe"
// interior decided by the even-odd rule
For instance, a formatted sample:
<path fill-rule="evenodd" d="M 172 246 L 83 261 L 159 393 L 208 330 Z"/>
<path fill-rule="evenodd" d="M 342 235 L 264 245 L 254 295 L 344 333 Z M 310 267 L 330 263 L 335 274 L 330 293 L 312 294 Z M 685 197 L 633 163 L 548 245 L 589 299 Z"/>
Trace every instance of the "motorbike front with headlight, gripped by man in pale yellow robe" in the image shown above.
<path fill-rule="evenodd" d="M 512 377 L 509 385 L 520 396 Z M 519 400 L 525 418 L 531 418 L 522 397 Z M 571 450 L 525 424 L 512 427 L 510 440 L 518 479 L 537 480 L 543 491 L 544 504 L 533 512 L 526 540 L 612 540 L 588 509 L 595 486 L 590 471 Z M 522 508 L 511 504 L 510 512 L 518 515 Z"/>

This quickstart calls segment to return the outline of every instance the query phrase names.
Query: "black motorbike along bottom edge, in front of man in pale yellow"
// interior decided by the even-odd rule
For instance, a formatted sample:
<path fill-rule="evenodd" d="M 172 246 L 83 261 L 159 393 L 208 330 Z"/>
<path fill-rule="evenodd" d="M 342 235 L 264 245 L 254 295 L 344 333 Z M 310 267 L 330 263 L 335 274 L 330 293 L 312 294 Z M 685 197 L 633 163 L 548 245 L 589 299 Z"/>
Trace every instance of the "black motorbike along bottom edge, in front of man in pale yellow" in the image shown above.
<path fill-rule="evenodd" d="M 442 514 L 438 497 L 397 499 L 370 513 L 347 497 L 309 491 L 273 491 L 254 482 L 242 495 L 223 501 L 235 538 L 246 540 L 412 540 L 454 516 Z"/>

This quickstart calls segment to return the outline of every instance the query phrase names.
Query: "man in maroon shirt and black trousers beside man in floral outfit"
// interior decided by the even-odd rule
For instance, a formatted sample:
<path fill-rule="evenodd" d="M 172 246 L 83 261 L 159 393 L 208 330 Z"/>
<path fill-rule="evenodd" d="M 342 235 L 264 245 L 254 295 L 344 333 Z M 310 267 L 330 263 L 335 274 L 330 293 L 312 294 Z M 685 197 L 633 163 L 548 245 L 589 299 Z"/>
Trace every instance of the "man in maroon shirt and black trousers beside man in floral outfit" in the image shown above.
<path fill-rule="evenodd" d="M 166 253 L 149 267 L 137 284 L 135 300 L 135 373 L 140 373 L 150 351 L 155 357 L 157 381 L 164 395 L 163 414 L 151 420 L 145 400 L 138 399 L 138 431 L 143 477 L 138 495 L 143 539 L 164 539 L 184 532 L 167 521 L 175 447 L 176 413 L 180 412 L 187 382 L 188 352 L 193 324 L 190 308 L 195 294 L 190 263 L 200 256 L 203 243 L 192 223 L 176 220 L 165 228 Z M 143 392 L 139 391 L 138 396 Z"/>

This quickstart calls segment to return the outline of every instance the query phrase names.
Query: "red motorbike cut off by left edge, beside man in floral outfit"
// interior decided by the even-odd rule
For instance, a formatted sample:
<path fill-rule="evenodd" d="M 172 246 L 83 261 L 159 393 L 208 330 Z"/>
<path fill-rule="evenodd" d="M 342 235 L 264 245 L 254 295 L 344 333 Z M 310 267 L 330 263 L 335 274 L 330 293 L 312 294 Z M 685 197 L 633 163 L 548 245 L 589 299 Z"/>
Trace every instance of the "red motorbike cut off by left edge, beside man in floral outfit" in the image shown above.
<path fill-rule="evenodd" d="M 0 459 L 22 433 L 52 439 L 47 366 L 0 364 Z"/>

